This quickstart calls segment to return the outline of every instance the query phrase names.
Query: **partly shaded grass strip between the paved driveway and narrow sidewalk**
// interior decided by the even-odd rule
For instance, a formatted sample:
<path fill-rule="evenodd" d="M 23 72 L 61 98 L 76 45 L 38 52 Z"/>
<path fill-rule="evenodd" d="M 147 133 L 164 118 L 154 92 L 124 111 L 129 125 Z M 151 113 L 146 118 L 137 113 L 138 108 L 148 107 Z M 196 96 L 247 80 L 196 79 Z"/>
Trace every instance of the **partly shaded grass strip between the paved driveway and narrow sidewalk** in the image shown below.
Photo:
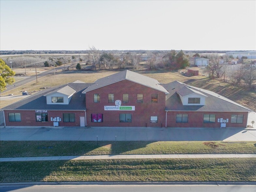
<path fill-rule="evenodd" d="M 104 154 L 256 153 L 256 142 L 221 141 L 0 141 L 0 157 Z"/>

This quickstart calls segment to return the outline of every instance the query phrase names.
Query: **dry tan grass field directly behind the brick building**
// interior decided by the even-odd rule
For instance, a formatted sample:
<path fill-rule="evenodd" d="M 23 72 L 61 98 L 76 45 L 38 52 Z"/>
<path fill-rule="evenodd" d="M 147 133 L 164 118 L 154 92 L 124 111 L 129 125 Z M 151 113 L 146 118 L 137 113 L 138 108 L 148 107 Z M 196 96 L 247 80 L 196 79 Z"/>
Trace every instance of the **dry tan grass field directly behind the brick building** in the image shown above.
<path fill-rule="evenodd" d="M 41 77 L 39 82 L 32 81 L 23 86 L 17 87 L 10 91 L 4 92 L 2 95 L 13 93 L 14 95 L 21 95 L 21 92 L 26 90 L 28 92 L 38 91 L 40 87 L 55 87 L 66 83 L 71 83 L 76 80 L 84 81 L 86 83 L 93 83 L 95 80 L 117 73 L 118 71 L 67 71 L 60 72 L 56 75 L 47 75 Z M 173 72 L 166 71 L 135 71 L 148 77 L 157 79 L 160 83 L 169 83 L 172 81 L 180 81 L 185 84 L 208 89 L 214 91 L 232 101 L 242 104 L 252 110 L 256 110 L 256 92 L 249 90 L 247 87 L 234 87 L 229 83 L 210 79 L 205 76 L 186 77 Z M 8 105 L 6 101 L 1 102 L 1 107 Z"/>

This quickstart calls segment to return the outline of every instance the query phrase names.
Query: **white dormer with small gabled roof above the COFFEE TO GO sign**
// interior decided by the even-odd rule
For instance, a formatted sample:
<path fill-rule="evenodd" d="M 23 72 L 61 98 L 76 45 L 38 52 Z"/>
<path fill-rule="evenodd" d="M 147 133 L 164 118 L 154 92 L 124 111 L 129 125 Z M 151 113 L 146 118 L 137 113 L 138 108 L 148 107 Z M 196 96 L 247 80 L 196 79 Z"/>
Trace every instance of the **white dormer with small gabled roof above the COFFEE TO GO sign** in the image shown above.
<path fill-rule="evenodd" d="M 69 86 L 45 94 L 47 104 L 69 104 L 76 91 Z"/>

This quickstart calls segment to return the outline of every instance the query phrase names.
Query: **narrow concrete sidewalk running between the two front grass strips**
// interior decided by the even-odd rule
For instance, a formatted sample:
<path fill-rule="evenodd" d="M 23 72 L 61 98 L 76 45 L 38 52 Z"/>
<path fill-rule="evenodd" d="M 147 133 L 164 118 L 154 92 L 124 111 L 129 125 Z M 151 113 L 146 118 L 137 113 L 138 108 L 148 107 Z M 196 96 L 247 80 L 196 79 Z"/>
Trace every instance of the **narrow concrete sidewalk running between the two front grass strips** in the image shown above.
<path fill-rule="evenodd" d="M 170 158 L 256 158 L 256 154 L 144 154 L 144 155 L 81 155 L 81 156 L 45 156 L 45 157 L 6 157 L 6 161 L 52 161 L 82 159 L 170 159 Z"/>

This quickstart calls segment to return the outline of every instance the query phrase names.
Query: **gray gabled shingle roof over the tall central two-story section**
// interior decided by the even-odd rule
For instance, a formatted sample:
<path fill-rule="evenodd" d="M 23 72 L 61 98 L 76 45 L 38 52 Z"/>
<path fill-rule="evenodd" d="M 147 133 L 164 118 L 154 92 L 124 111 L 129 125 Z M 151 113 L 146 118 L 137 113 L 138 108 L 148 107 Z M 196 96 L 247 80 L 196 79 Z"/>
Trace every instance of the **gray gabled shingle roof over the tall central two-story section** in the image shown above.
<path fill-rule="evenodd" d="M 153 79 L 129 70 L 125 70 L 122 72 L 109 75 L 107 77 L 97 79 L 94 82 L 94 84 L 88 87 L 83 93 L 119 82 L 125 79 L 168 94 L 168 91 L 163 86 L 159 85 L 159 82 L 156 79 Z"/>

